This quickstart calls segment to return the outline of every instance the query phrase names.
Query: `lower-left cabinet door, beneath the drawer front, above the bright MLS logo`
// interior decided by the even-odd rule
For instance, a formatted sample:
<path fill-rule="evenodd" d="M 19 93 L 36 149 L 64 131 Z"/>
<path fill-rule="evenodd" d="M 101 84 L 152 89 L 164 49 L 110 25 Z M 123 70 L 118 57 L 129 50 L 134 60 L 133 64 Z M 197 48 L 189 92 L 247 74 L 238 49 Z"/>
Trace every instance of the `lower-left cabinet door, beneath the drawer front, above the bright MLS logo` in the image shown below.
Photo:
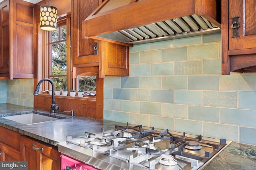
<path fill-rule="evenodd" d="M 0 161 L 19 161 L 21 160 L 20 151 L 0 143 Z"/>

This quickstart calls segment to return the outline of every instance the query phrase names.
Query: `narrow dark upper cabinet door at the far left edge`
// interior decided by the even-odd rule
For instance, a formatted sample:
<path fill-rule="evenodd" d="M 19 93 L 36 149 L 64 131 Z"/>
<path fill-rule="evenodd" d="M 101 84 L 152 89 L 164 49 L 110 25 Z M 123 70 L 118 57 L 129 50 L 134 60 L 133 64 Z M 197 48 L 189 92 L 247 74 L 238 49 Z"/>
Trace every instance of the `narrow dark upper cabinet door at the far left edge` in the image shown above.
<path fill-rule="evenodd" d="M 0 10 L 0 73 L 5 73 L 10 63 L 9 1 L 2 2 Z"/>

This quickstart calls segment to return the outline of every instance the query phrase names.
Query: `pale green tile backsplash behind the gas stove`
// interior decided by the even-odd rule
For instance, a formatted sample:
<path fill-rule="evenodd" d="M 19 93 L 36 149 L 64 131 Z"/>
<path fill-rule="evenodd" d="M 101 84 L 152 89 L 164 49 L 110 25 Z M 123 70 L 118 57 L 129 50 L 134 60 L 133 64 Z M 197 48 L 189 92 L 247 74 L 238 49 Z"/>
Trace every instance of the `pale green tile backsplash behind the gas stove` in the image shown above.
<path fill-rule="evenodd" d="M 221 75 L 221 34 L 130 47 L 104 78 L 104 119 L 256 145 L 256 74 Z"/>

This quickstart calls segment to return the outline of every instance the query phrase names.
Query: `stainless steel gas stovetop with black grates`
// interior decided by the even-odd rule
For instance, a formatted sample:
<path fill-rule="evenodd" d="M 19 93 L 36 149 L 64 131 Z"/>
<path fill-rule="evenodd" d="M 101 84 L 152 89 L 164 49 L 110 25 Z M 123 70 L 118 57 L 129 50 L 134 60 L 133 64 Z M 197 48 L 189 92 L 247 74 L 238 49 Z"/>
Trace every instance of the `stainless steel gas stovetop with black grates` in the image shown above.
<path fill-rule="evenodd" d="M 143 129 L 142 125 L 117 126 L 99 133 L 59 143 L 62 154 L 99 169 L 197 170 L 232 141 L 166 130 Z"/>

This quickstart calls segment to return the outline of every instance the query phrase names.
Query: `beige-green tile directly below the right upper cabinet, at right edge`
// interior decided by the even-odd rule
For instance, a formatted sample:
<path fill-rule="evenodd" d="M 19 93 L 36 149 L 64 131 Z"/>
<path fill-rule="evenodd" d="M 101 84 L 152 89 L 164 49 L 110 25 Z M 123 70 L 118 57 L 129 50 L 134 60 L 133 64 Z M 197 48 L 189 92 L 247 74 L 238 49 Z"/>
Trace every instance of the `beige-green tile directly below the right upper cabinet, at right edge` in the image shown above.
<path fill-rule="evenodd" d="M 256 91 L 255 74 L 220 76 L 220 90 Z"/>

